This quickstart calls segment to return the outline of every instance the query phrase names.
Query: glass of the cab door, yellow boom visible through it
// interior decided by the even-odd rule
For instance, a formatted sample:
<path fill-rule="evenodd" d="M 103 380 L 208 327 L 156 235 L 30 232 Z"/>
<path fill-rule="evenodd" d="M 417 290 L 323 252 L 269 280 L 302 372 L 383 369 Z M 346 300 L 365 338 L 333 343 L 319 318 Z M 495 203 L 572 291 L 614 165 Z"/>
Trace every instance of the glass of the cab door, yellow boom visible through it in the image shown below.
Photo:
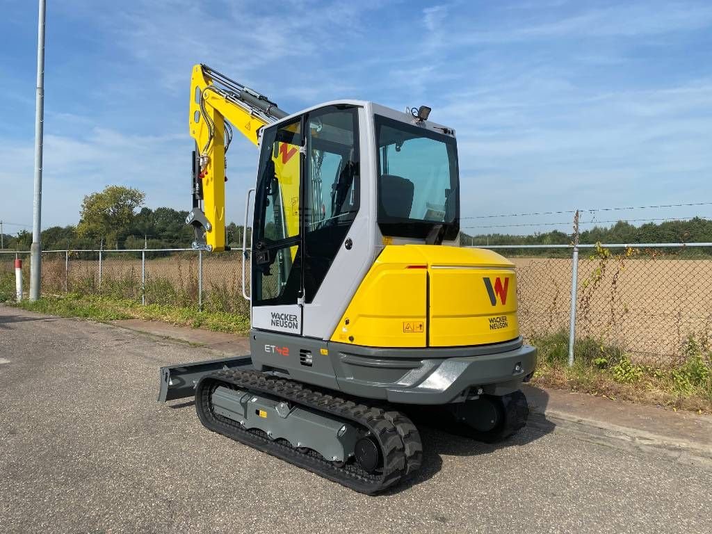
<path fill-rule="evenodd" d="M 253 302 L 295 304 L 301 291 L 300 121 L 266 129 L 255 196 Z"/>

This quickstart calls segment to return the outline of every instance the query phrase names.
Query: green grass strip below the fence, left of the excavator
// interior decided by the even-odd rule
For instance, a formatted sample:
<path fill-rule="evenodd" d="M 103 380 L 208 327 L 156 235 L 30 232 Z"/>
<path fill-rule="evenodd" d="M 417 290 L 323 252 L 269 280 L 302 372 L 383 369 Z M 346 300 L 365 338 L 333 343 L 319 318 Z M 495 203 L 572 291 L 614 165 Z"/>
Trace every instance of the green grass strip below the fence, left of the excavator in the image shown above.
<path fill-rule="evenodd" d="M 203 328 L 214 332 L 246 334 L 250 329 L 250 319 L 236 313 L 198 311 L 173 305 L 142 305 L 140 300 L 113 298 L 99 295 L 46 296 L 30 302 L 12 303 L 23 310 L 61 317 L 78 317 L 98 321 L 120 319 L 157 320 L 172 325 Z"/>

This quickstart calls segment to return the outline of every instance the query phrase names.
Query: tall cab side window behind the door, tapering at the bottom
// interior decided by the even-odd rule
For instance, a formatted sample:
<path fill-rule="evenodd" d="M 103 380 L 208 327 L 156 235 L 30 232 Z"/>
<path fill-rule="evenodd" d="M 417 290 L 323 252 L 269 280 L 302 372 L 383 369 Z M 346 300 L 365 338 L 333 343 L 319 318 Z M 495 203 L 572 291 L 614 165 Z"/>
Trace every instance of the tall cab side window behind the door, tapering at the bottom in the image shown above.
<path fill-rule="evenodd" d="M 304 297 L 310 303 L 359 208 L 357 108 L 331 106 L 307 119 Z"/>

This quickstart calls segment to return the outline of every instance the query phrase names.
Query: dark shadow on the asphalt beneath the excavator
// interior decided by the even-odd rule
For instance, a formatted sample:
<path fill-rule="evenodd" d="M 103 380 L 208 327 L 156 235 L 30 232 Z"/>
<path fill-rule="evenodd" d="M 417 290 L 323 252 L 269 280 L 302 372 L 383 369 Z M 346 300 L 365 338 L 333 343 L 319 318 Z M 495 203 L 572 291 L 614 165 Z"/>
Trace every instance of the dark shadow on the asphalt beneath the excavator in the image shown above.
<path fill-rule="evenodd" d="M 530 406 L 534 405 L 538 411 L 543 412 L 548 404 L 549 395 L 543 389 L 529 386 L 527 389 Z M 172 409 L 182 409 L 195 405 L 194 399 L 169 404 Z M 423 462 L 415 475 L 404 483 L 400 483 L 394 488 L 379 493 L 379 496 L 395 495 L 405 491 L 412 486 L 416 486 L 436 475 L 442 468 L 442 456 L 478 456 L 480 454 L 491 454 L 499 449 L 506 449 L 511 446 L 525 446 L 536 441 L 546 434 L 550 434 L 555 429 L 555 424 L 546 419 L 541 413 L 530 411 L 527 426 L 520 429 L 516 434 L 508 439 L 496 444 L 486 444 L 472 438 L 456 434 L 451 429 L 444 429 L 434 424 L 432 419 L 419 416 L 413 412 L 412 406 L 405 410 L 413 420 L 420 432 L 423 442 Z"/>

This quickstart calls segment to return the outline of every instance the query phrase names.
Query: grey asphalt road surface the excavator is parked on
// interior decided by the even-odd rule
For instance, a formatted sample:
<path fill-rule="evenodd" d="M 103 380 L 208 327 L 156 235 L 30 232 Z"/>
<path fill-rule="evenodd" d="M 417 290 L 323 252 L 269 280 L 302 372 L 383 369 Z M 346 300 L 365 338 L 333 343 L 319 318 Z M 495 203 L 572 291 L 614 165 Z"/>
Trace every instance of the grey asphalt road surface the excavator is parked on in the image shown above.
<path fill-rule="evenodd" d="M 414 483 L 353 493 L 157 404 L 160 365 L 208 357 L 0 306 L 0 532 L 712 532 L 710 471 L 545 422 L 501 446 L 422 429 Z"/>

